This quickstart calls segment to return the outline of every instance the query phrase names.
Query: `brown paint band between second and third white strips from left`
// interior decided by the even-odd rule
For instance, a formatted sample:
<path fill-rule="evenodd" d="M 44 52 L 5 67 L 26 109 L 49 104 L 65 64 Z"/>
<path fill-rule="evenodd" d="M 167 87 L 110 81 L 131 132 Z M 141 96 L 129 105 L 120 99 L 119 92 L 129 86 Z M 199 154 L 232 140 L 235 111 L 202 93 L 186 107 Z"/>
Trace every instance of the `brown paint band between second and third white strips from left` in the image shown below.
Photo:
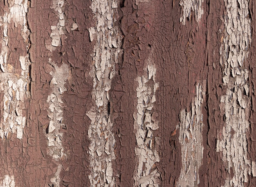
<path fill-rule="evenodd" d="M 91 3 L 80 0 L 65 2 L 65 26 L 71 28 L 75 21 L 79 27 L 70 32 L 67 29 L 67 38 L 61 38 L 62 46 L 53 52 L 55 62 L 65 62 L 71 69 L 67 92 L 63 94 L 63 116 L 67 128 L 63 129 L 63 147 L 67 153 L 67 159 L 62 162 L 65 170 L 61 173 L 63 186 L 90 186 L 88 126 L 91 121 L 85 113 L 92 106 L 92 79 L 88 76 L 94 48 L 88 33 L 90 26 L 94 26 Z"/>

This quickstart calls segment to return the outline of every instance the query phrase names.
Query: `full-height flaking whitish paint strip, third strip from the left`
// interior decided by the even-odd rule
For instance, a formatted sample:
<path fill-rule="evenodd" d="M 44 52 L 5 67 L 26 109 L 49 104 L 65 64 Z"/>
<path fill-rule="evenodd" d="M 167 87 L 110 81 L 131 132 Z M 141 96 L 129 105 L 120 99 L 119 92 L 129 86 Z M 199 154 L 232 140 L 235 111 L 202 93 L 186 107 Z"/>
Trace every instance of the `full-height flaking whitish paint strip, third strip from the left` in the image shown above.
<path fill-rule="evenodd" d="M 115 176 L 112 169 L 112 160 L 115 159 L 115 136 L 112 132 L 112 122 L 108 114 L 108 102 L 110 102 L 109 90 L 115 64 L 121 52 L 121 39 L 119 29 L 114 27 L 113 18 L 116 2 L 108 0 L 92 0 L 90 7 L 97 19 L 97 25 L 89 29 L 90 41 L 96 40 L 92 54 L 93 78 L 92 100 L 94 106 L 86 113 L 91 119 L 88 129 L 90 140 L 89 154 L 91 174 L 89 175 L 91 186 L 112 187 L 115 186 Z M 73 26 L 72 26 L 73 27 Z M 74 27 L 75 28 L 75 27 Z"/>

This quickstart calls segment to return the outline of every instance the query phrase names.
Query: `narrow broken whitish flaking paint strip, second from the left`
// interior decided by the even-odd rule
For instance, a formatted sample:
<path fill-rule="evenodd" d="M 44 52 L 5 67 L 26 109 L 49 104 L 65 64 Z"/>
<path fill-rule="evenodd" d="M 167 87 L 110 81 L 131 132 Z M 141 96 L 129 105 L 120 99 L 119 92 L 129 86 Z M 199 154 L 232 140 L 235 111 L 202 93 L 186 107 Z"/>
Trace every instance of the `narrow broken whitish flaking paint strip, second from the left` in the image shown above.
<path fill-rule="evenodd" d="M 50 37 L 52 43 L 49 45 L 45 44 L 50 52 L 54 51 L 56 47 L 61 46 L 61 35 L 65 35 L 63 6 L 64 0 L 53 0 L 52 2 L 51 8 L 58 14 L 58 23 L 55 26 L 51 26 L 52 33 L 50 34 Z M 61 66 L 58 66 L 51 58 L 48 59 L 48 62 L 54 67 L 54 71 L 50 72 L 50 75 L 52 75 L 52 80 L 50 81 L 52 92 L 48 95 L 46 101 L 49 104 L 49 109 L 47 110 L 49 125 L 46 128 L 45 136 L 48 142 L 49 155 L 52 156 L 58 165 L 58 169 L 50 181 L 55 184 L 56 187 L 59 187 L 61 182 L 60 173 L 61 170 L 63 170 L 61 159 L 64 159 L 66 156 L 62 145 L 64 134 L 61 132 L 61 128 L 64 126 L 66 128 L 66 125 L 63 123 L 63 110 L 61 107 L 63 101 L 61 100 L 61 95 L 66 91 L 65 83 L 68 79 L 70 68 L 64 62 Z"/>

